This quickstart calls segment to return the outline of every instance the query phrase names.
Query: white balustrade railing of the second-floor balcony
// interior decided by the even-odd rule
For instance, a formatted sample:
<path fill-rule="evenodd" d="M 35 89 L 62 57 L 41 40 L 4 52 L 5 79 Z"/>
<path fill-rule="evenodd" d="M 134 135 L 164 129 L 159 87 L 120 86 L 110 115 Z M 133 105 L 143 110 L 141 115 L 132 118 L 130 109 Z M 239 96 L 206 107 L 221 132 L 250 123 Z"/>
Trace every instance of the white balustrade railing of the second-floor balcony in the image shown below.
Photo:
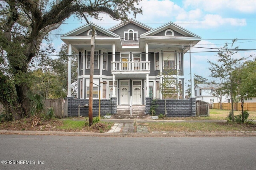
<path fill-rule="evenodd" d="M 150 61 L 115 61 L 112 63 L 112 71 L 150 71 Z"/>

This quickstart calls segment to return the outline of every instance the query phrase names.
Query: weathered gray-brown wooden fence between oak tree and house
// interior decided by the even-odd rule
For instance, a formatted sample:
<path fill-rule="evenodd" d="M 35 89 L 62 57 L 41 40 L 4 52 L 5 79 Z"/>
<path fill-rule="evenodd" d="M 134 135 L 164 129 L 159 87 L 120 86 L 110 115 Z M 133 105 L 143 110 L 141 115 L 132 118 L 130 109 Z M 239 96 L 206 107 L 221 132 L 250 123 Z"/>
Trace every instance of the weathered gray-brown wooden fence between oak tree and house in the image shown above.
<path fill-rule="evenodd" d="M 49 107 L 53 107 L 54 114 L 58 118 L 68 116 L 68 100 L 65 99 L 46 99 L 44 100 L 44 109 L 47 111 Z M 0 113 L 4 111 L 4 106 L 0 104 Z"/>

